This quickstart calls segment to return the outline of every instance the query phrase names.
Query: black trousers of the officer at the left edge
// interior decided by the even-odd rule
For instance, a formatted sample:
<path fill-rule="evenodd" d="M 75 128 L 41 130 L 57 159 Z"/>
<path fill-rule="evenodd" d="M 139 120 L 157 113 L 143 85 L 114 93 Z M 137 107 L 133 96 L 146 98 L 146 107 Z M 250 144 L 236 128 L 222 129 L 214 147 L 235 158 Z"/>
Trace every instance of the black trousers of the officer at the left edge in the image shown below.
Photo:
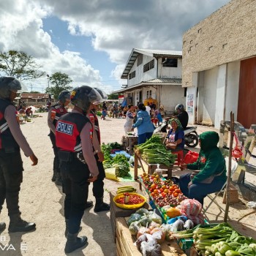
<path fill-rule="evenodd" d="M 0 211 L 7 200 L 8 215 L 20 214 L 18 202 L 23 178 L 20 151 L 5 153 L 0 150 Z"/>

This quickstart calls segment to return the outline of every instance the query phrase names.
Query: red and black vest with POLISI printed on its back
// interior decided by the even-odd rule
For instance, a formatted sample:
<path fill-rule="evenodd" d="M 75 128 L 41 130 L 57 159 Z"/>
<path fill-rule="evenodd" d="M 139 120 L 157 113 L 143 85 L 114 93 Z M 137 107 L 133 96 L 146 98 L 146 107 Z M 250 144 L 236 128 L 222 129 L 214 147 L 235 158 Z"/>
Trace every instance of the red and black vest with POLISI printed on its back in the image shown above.
<path fill-rule="evenodd" d="M 80 133 L 88 122 L 90 122 L 89 118 L 80 113 L 67 113 L 61 116 L 56 125 L 56 146 L 60 150 L 80 152 L 82 150 Z"/>

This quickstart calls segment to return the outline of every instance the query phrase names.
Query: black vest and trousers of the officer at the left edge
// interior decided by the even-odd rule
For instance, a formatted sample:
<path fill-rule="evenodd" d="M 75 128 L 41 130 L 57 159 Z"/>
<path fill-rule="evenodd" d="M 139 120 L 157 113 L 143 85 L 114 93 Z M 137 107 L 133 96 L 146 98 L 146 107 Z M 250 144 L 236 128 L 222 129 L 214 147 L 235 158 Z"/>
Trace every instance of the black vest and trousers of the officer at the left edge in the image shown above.
<path fill-rule="evenodd" d="M 18 195 L 23 179 L 23 162 L 20 147 L 12 136 L 7 121 L 4 118 L 5 109 L 11 102 L 0 99 L 0 212 L 7 201 L 8 214 L 20 214 Z"/>

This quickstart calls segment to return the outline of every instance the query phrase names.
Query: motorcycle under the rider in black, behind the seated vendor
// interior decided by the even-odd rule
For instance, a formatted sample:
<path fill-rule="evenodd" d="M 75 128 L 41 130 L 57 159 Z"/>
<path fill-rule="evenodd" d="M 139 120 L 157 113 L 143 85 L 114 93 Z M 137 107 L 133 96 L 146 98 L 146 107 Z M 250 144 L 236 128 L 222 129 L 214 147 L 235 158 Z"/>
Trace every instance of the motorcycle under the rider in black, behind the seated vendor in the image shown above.
<path fill-rule="evenodd" d="M 163 120 L 162 124 L 154 129 L 154 133 L 156 132 L 167 132 L 167 121 Z M 188 146 L 189 148 L 195 148 L 198 145 L 198 135 L 197 135 L 197 127 L 187 127 L 184 129 L 184 140 L 185 140 L 185 145 Z"/>

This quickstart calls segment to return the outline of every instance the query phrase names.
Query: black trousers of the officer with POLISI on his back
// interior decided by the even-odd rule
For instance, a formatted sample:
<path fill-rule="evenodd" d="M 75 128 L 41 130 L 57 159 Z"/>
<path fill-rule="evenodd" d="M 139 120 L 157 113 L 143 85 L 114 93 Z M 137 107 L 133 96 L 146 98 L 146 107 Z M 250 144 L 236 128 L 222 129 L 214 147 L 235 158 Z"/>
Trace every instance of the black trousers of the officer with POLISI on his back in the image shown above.
<path fill-rule="evenodd" d="M 83 212 L 86 209 L 88 199 L 89 168 L 80 162 L 75 154 L 71 153 L 71 158 L 60 157 L 61 176 L 63 181 L 64 193 L 64 216 L 69 219 L 68 232 L 78 233 Z M 69 160 L 67 160 L 69 158 Z"/>

